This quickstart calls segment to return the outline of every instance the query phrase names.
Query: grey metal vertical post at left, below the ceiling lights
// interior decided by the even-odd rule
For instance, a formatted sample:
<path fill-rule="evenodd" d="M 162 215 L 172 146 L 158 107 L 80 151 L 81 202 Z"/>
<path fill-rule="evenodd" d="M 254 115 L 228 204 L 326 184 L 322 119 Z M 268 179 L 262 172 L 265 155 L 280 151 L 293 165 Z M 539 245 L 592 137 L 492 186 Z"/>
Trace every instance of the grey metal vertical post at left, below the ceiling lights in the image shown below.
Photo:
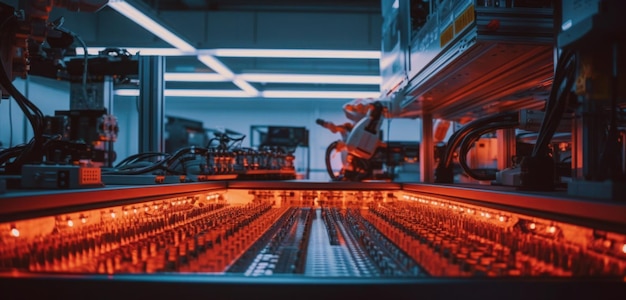
<path fill-rule="evenodd" d="M 163 152 L 165 58 L 139 58 L 139 153 Z"/>

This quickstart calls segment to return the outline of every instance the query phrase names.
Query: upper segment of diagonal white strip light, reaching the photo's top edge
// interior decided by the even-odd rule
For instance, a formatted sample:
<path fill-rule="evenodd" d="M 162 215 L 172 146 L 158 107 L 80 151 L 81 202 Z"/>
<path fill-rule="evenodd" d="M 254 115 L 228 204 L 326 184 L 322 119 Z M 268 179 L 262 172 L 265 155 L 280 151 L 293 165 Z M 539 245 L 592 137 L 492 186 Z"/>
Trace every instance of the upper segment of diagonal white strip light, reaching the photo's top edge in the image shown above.
<path fill-rule="evenodd" d="M 151 17 L 148 17 L 142 11 L 130 5 L 128 2 L 124 0 L 111 0 L 109 2 L 109 7 L 124 15 L 131 21 L 139 24 L 141 27 L 150 31 L 151 33 L 166 41 L 170 45 L 176 47 L 177 49 L 190 53 L 196 51 L 196 48 L 194 46 L 187 43 L 179 36 L 171 32 L 167 28 L 163 27 L 163 25 L 159 24 Z"/>

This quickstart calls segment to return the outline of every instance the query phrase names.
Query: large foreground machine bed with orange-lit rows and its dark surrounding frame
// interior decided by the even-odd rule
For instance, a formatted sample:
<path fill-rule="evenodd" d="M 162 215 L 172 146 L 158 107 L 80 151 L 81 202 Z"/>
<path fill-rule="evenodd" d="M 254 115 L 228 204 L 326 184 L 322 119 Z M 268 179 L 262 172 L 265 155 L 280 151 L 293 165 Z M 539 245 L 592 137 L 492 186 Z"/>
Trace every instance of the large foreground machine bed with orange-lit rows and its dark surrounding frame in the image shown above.
<path fill-rule="evenodd" d="M 297 284 L 316 297 L 328 285 L 356 295 L 374 285 L 399 298 L 460 297 L 464 287 L 521 299 L 528 284 L 524 298 L 606 296 L 626 276 L 625 207 L 550 195 L 230 181 L 0 200 L 0 285 L 15 296 L 109 297 L 120 285 L 174 294 L 161 284 L 192 295 L 235 284 L 231 297 L 281 297 Z M 38 288 L 17 288 L 26 285 Z"/>

